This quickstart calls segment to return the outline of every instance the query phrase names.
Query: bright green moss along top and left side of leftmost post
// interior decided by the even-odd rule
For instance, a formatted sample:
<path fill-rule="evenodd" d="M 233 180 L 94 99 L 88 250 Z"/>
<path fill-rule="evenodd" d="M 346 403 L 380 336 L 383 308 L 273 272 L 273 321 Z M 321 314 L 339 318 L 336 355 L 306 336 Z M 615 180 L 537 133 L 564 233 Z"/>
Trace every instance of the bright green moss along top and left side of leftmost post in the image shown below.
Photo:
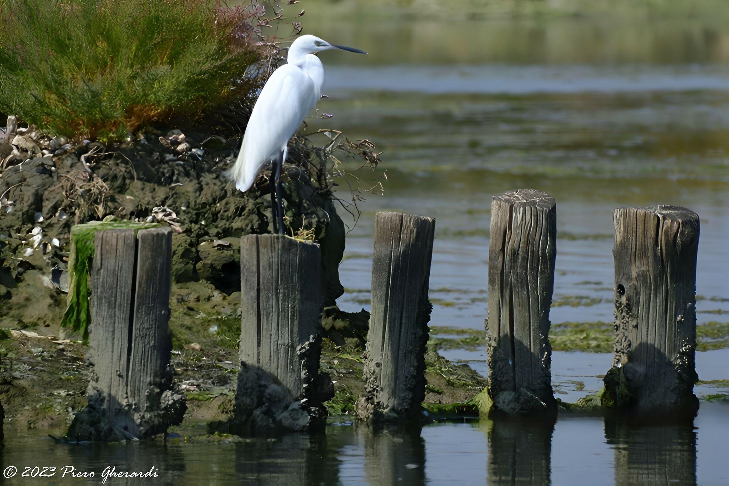
<path fill-rule="evenodd" d="M 139 230 L 160 227 L 158 223 L 138 223 L 133 221 L 93 221 L 77 224 L 71 228 L 71 252 L 69 254 L 69 296 L 66 300 L 66 313 L 63 314 L 61 327 L 70 327 L 80 332 L 85 345 L 89 341 L 91 308 L 89 306 L 89 260 L 94 254 L 94 235 L 104 230 Z"/>

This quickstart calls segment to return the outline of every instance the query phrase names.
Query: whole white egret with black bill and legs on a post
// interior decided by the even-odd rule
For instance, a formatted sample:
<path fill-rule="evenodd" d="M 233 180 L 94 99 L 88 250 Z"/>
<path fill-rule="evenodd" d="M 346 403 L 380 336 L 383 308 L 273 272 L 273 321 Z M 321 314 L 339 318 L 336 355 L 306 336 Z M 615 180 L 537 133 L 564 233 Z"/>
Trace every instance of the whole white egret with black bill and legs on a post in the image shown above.
<path fill-rule="evenodd" d="M 316 106 L 324 89 L 324 66 L 314 53 L 331 49 L 367 54 L 353 47 L 330 44 L 316 36 L 296 39 L 289 47 L 287 63 L 271 74 L 261 90 L 243 135 L 241 152 L 228 173 L 235 181 L 235 187 L 246 192 L 253 186 L 262 165 L 273 162 L 271 208 L 275 233 L 284 234 L 281 171 L 286 160 L 286 145 L 304 117 Z"/>

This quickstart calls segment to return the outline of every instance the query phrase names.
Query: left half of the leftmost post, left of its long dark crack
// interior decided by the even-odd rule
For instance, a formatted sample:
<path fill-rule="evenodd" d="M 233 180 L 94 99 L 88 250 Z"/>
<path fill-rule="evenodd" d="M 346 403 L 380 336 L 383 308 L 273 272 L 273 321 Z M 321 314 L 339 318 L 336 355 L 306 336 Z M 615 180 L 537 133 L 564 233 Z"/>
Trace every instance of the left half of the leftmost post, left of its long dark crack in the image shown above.
<path fill-rule="evenodd" d="M 134 230 L 96 233 L 89 348 L 96 383 L 104 395 L 104 409 L 109 418 L 128 398 L 135 259 Z"/>

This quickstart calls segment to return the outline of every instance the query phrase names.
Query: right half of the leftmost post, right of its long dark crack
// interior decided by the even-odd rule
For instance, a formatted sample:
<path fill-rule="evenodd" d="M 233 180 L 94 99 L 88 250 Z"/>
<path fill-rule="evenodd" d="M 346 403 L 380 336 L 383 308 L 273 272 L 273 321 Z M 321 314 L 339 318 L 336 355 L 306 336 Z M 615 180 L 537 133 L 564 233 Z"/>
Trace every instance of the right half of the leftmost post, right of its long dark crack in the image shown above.
<path fill-rule="evenodd" d="M 136 285 L 130 355 L 128 393 L 140 411 L 147 407 L 147 390 L 165 388 L 165 370 L 170 363 L 172 342 L 170 318 L 170 227 L 140 230 L 137 233 Z"/>

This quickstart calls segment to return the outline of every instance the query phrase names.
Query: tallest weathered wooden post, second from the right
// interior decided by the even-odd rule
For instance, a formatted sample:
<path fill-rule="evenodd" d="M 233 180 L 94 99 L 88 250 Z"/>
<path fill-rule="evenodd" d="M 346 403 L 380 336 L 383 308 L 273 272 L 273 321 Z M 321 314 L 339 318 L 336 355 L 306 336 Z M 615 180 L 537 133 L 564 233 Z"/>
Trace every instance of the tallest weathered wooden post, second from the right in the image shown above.
<path fill-rule="evenodd" d="M 549 342 L 556 239 L 550 195 L 518 189 L 492 197 L 486 323 L 492 409 L 556 412 Z"/>

